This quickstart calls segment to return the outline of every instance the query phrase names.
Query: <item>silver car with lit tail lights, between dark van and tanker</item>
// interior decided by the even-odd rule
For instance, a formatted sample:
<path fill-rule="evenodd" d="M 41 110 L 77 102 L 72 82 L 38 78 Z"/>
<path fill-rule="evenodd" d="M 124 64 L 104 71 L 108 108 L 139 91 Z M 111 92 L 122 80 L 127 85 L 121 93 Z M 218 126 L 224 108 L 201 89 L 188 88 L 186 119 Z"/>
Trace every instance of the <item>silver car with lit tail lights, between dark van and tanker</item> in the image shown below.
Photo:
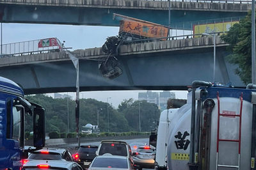
<path fill-rule="evenodd" d="M 142 168 L 154 168 L 156 151 L 150 146 L 140 146 L 132 153 L 134 165 L 140 170 Z"/>

